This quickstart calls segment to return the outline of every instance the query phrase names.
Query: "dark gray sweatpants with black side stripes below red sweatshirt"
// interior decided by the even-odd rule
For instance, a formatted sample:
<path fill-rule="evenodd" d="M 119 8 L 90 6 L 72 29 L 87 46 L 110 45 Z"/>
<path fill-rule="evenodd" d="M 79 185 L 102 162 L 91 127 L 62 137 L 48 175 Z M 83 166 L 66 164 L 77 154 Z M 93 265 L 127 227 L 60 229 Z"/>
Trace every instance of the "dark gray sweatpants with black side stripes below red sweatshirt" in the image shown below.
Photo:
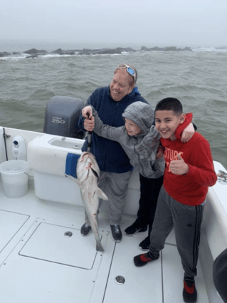
<path fill-rule="evenodd" d="M 174 227 L 176 247 L 181 257 L 185 277 L 195 277 L 199 257 L 200 229 L 204 204 L 184 205 L 174 200 L 162 185 L 150 235 L 150 254 L 158 257 L 164 242 Z"/>

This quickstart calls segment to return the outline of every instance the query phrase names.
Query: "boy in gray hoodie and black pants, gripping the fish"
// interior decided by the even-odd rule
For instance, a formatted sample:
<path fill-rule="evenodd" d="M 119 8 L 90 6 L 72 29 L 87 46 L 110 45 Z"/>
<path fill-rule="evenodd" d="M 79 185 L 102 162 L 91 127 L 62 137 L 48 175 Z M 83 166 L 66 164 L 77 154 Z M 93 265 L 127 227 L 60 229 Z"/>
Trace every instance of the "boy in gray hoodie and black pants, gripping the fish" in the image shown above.
<path fill-rule="evenodd" d="M 97 135 L 120 143 L 130 158 L 130 164 L 139 172 L 140 200 L 137 220 L 127 227 L 125 235 L 144 232 L 149 225 L 148 237 L 139 244 L 141 250 L 149 250 L 149 235 L 165 168 L 164 158 L 157 157 L 160 135 L 153 125 L 154 110 L 147 103 L 134 102 L 122 114 L 125 125 L 118 128 L 103 124 L 93 106 L 83 108 L 82 115 L 95 122 L 93 130 Z M 189 128 L 189 133 L 193 135 L 192 124 Z"/>

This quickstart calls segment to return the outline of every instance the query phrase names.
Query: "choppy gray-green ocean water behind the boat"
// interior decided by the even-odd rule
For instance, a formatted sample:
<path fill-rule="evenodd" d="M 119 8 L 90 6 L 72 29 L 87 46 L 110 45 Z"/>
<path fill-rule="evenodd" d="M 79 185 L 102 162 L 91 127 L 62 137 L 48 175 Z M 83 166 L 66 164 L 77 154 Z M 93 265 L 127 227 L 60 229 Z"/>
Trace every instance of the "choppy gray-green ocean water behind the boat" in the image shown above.
<path fill-rule="evenodd" d="M 0 125 L 42 132 L 46 105 L 53 96 L 85 102 L 95 88 L 110 83 L 119 63 L 137 68 L 139 92 L 152 107 L 162 98 L 179 98 L 184 112 L 194 113 L 194 123 L 210 143 L 213 159 L 227 168 L 227 49 L 2 57 Z"/>

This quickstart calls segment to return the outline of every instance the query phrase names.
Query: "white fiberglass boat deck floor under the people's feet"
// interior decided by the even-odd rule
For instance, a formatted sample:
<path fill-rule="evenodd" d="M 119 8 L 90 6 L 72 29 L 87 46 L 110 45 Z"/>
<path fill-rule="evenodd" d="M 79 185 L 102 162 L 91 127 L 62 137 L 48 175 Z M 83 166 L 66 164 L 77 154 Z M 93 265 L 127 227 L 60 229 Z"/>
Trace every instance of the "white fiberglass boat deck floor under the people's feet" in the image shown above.
<path fill-rule="evenodd" d="M 83 207 L 38 199 L 32 184 L 26 196 L 9 199 L 1 181 L 0 201 L 0 302 L 183 302 L 183 269 L 174 232 L 159 260 L 135 267 L 133 257 L 142 253 L 138 245 L 147 232 L 123 235 L 116 244 L 107 218 L 100 214 L 105 247 L 100 253 L 93 233 L 80 235 Z M 132 222 L 134 217 L 123 217 L 122 231 Z M 117 284 L 117 276 L 124 277 L 125 284 Z M 208 303 L 200 265 L 196 288 L 197 302 Z"/>

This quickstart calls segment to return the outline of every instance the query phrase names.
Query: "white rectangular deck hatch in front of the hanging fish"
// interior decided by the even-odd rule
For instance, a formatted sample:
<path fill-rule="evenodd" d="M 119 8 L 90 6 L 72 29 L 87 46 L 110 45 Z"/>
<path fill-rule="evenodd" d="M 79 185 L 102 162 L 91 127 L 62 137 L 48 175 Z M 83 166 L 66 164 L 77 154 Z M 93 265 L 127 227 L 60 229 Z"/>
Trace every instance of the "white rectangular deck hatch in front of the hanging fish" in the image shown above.
<path fill-rule="evenodd" d="M 106 232 L 105 232 L 106 234 Z M 100 231 L 102 242 L 102 231 Z M 93 233 L 82 237 L 80 230 L 40 223 L 19 255 L 61 265 L 92 269 L 97 256 Z"/>

